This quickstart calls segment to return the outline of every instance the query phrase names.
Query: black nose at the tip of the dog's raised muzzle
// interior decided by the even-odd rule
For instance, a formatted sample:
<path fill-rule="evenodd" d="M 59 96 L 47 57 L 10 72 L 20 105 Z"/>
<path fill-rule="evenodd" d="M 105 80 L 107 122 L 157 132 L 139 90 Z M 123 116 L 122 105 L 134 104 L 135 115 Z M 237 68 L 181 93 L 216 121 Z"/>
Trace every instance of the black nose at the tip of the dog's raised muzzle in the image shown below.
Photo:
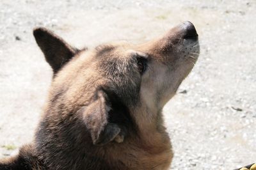
<path fill-rule="evenodd" d="M 181 26 L 184 30 L 183 38 L 197 40 L 198 34 L 196 33 L 195 26 L 191 22 L 186 21 Z"/>

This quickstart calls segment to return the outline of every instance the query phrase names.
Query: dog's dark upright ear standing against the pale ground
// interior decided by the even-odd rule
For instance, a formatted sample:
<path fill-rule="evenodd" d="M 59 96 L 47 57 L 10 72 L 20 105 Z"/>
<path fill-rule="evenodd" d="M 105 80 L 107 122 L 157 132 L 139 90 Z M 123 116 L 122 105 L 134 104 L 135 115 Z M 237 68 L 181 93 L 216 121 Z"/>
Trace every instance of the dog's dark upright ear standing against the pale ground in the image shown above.
<path fill-rule="evenodd" d="M 61 66 L 78 52 L 76 48 L 71 47 L 62 38 L 44 27 L 35 28 L 33 35 L 54 73 L 58 72 Z"/>

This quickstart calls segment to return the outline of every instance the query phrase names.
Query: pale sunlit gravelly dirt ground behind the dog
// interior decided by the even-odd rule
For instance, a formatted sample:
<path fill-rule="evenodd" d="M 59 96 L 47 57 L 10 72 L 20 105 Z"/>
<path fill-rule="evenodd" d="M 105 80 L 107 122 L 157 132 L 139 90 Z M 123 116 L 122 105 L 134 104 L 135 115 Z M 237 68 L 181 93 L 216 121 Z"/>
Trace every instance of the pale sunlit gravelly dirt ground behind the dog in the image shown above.
<path fill-rule="evenodd" d="M 171 169 L 256 161 L 256 1 L 0 1 L 0 158 L 33 138 L 51 68 L 32 35 L 45 26 L 76 47 L 140 43 L 190 20 L 201 54 L 164 107 Z"/>

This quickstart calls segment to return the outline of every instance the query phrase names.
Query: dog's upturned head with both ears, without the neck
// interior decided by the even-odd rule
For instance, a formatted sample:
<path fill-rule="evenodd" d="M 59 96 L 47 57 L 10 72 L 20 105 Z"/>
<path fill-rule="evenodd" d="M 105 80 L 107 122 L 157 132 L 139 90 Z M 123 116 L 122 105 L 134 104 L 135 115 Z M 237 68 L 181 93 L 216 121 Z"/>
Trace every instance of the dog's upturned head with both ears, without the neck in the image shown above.
<path fill-rule="evenodd" d="M 191 22 L 140 45 L 78 50 L 44 28 L 34 36 L 54 72 L 48 108 L 81 116 L 94 144 L 122 142 L 129 126 L 156 123 L 199 54 Z"/>

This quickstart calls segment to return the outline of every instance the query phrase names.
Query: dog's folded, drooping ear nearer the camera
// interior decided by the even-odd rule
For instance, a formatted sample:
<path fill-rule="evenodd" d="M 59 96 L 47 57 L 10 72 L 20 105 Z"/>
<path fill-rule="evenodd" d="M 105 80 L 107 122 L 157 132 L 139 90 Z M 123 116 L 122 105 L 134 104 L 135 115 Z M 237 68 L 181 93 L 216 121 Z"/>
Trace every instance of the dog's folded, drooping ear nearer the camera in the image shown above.
<path fill-rule="evenodd" d="M 122 142 L 121 128 L 116 123 L 109 123 L 110 109 L 107 95 L 102 90 L 99 90 L 94 101 L 83 109 L 83 121 L 91 134 L 93 144 L 104 145 L 113 140 Z M 124 136 L 121 138 L 124 139 Z"/>

